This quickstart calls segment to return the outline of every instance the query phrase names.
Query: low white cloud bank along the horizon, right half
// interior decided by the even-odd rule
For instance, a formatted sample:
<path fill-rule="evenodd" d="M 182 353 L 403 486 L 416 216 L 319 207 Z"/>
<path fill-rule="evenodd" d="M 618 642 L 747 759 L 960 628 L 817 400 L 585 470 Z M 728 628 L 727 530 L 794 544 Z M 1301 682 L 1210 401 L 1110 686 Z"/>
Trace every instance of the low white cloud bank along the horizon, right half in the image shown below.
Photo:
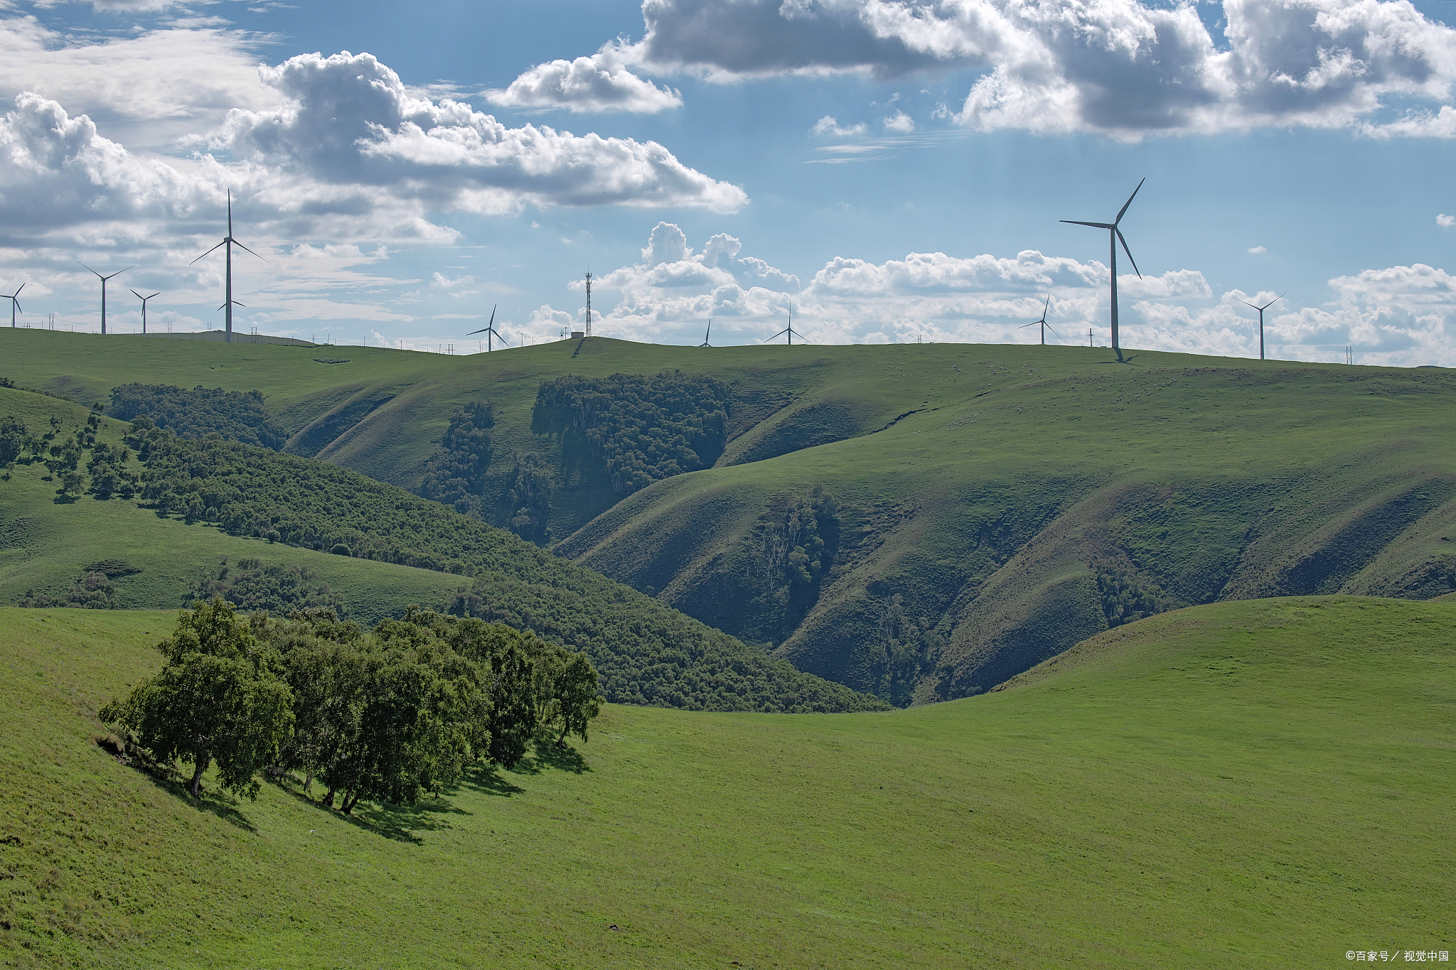
<path fill-rule="evenodd" d="M 1367 270 L 1332 279 L 1331 288 L 1335 300 L 1324 307 L 1286 298 L 1265 313 L 1270 356 L 1335 361 L 1354 345 L 1366 364 L 1456 364 L 1456 279 L 1444 270 Z M 1015 343 L 1035 339 L 1021 324 L 1040 317 L 1050 298 L 1056 342 L 1085 345 L 1091 327 L 1099 345 L 1108 343 L 1107 266 L 1035 250 L 1013 257 L 910 253 L 882 263 L 840 256 L 801 285 L 744 256 L 731 236 L 713 236 L 695 252 L 680 227 L 658 223 L 642 262 L 603 273 L 597 289 L 596 332 L 632 340 L 697 340 L 712 317 L 715 343 L 751 343 L 782 329 L 792 308 L 795 330 L 815 343 Z M 1264 305 L 1278 297 L 1239 289 L 1216 297 L 1197 269 L 1120 275 L 1118 295 L 1123 346 L 1227 356 L 1258 355 L 1258 316 L 1245 301 Z M 543 307 L 537 316 L 542 333 L 579 326 L 579 313 Z"/>

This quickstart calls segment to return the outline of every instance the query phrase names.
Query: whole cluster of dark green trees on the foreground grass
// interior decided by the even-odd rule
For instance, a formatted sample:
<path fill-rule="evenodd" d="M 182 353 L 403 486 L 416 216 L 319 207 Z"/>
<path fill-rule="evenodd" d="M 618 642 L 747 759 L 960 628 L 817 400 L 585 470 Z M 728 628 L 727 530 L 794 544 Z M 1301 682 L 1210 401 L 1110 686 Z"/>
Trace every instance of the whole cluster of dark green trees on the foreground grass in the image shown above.
<path fill-rule="evenodd" d="M 100 711 L 160 765 L 217 765 L 256 797 L 259 772 L 325 787 L 323 804 L 412 804 L 480 761 L 507 768 L 539 729 L 587 737 L 597 675 L 529 633 L 412 609 L 373 634 L 332 609 L 245 618 L 223 601 L 183 611 L 162 672 Z"/>

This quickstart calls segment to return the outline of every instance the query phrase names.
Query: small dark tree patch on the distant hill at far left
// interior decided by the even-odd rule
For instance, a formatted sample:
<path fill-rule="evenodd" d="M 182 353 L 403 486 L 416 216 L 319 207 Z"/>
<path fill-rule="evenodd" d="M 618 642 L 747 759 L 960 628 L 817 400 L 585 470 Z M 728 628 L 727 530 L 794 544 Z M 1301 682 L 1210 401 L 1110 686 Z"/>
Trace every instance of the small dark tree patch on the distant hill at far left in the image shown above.
<path fill-rule="evenodd" d="M 159 428 L 170 428 L 182 438 L 218 433 L 245 445 L 278 451 L 288 435 L 264 407 L 258 391 L 208 390 L 202 385 L 185 391 L 169 384 L 121 384 L 111 391 L 108 413 L 121 420 L 150 417 Z"/>

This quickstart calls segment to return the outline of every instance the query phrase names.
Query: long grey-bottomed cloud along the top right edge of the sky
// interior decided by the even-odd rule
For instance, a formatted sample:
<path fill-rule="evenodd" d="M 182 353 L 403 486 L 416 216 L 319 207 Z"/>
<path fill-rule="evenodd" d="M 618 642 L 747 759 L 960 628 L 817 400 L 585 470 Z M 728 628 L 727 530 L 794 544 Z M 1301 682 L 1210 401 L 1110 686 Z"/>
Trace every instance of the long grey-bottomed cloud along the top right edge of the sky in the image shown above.
<path fill-rule="evenodd" d="M 1405 0 L 644 0 L 613 55 L 711 81 L 967 70 L 968 128 L 1217 132 L 1358 127 L 1456 137 L 1456 31 Z M 527 76 L 523 76 L 526 79 Z M 524 83 L 524 81 L 523 81 Z M 1431 102 L 1398 121 L 1382 108 Z"/>

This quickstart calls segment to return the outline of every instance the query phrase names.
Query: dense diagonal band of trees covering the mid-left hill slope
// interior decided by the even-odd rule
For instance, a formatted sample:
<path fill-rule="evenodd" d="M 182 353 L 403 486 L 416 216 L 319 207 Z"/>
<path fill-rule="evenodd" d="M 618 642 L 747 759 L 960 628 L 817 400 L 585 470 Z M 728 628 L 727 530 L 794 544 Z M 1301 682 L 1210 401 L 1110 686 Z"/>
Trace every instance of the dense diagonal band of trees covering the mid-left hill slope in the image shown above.
<path fill-rule="evenodd" d="M 450 605 L 584 650 L 607 700 L 695 710 L 878 710 L 879 701 L 403 489 L 338 465 L 210 436 L 143 430 L 143 497 L 233 535 L 475 574 Z"/>

